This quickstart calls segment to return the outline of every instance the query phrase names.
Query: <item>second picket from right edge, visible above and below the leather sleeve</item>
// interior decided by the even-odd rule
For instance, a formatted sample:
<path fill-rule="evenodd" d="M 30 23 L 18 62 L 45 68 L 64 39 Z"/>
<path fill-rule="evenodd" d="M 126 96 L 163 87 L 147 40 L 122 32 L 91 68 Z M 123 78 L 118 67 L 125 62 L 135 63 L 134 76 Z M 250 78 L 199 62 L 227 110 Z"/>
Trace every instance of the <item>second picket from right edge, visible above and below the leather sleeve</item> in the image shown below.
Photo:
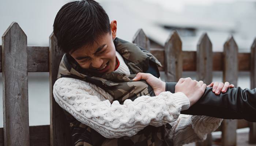
<path fill-rule="evenodd" d="M 224 44 L 223 82 L 237 86 L 238 79 L 238 47 L 233 37 Z M 222 146 L 235 146 L 237 141 L 237 120 L 223 120 Z"/>

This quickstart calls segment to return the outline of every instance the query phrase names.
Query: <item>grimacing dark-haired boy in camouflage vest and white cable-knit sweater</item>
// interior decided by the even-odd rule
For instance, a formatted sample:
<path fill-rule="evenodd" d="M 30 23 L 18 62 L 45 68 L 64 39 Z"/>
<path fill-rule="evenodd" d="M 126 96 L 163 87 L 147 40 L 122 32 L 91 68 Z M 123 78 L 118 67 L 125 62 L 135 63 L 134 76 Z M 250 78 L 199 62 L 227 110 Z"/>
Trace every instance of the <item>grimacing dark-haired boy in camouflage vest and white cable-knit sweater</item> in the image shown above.
<path fill-rule="evenodd" d="M 116 20 L 110 23 L 97 2 L 65 4 L 53 30 L 65 52 L 53 95 L 67 115 L 75 146 L 182 145 L 203 140 L 221 123 L 180 115 L 203 95 L 202 81 L 187 78 L 176 93 L 155 90 L 163 84 L 133 81 L 139 72 L 158 78 L 161 64 L 143 48 L 117 38 Z"/>

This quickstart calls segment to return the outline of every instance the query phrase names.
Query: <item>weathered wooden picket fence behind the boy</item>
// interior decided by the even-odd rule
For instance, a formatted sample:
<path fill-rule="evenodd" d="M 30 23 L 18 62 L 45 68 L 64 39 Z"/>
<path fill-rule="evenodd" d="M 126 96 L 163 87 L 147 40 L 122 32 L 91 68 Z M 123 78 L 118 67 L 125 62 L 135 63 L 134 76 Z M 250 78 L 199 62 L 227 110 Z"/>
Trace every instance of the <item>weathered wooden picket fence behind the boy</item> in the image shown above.
<path fill-rule="evenodd" d="M 234 38 L 229 38 L 224 51 L 212 52 L 207 34 L 203 34 L 197 51 L 182 51 L 181 39 L 176 31 L 170 34 L 165 48 L 152 49 L 150 41 L 140 29 L 133 42 L 153 53 L 165 71 L 166 81 L 177 81 L 182 70 L 196 71 L 197 80 L 207 84 L 212 72 L 223 70 L 223 81 L 237 85 L 238 71 L 251 72 L 251 88 L 256 88 L 256 39 L 251 53 L 238 53 Z M 63 52 L 57 46 L 53 34 L 49 47 L 27 46 L 27 36 L 18 23 L 11 23 L 2 36 L 0 72 L 3 74 L 3 123 L 0 128 L 0 146 L 70 146 L 69 123 L 62 108 L 52 94 Z M 224 63 L 223 63 L 224 62 Z M 50 125 L 29 126 L 28 72 L 49 72 L 50 77 Z M 32 97 L 33 98 L 33 97 Z M 40 103 L 38 103 L 40 104 Z M 249 142 L 256 143 L 256 123 L 245 120 L 224 120 L 221 128 L 222 145 L 236 145 L 236 129 L 250 127 Z M 211 145 L 211 138 L 197 145 Z"/>

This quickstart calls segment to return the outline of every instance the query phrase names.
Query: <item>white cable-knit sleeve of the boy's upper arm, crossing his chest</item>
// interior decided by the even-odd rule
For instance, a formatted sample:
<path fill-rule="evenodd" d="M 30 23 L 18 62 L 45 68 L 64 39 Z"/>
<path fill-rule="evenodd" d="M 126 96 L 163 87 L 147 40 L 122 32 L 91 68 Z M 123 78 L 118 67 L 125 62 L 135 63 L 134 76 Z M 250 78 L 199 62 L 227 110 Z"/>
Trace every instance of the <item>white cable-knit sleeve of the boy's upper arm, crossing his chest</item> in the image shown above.
<path fill-rule="evenodd" d="M 162 126 L 189 108 L 189 100 L 181 92 L 140 96 L 121 105 L 118 101 L 111 104 L 113 97 L 94 86 L 74 78 L 59 78 L 53 86 L 53 95 L 60 107 L 106 138 L 131 137 L 148 125 Z"/>

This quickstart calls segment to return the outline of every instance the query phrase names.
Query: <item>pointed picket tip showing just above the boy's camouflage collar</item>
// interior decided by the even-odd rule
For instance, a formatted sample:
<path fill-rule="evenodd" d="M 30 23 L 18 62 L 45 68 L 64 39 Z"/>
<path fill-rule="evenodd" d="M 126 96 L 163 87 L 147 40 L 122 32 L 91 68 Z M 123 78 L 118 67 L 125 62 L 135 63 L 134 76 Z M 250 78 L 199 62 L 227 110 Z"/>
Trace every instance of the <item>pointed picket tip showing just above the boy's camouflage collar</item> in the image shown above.
<path fill-rule="evenodd" d="M 136 32 L 136 34 L 132 38 L 132 42 L 138 44 L 147 51 L 150 51 L 150 41 L 141 28 Z"/>

